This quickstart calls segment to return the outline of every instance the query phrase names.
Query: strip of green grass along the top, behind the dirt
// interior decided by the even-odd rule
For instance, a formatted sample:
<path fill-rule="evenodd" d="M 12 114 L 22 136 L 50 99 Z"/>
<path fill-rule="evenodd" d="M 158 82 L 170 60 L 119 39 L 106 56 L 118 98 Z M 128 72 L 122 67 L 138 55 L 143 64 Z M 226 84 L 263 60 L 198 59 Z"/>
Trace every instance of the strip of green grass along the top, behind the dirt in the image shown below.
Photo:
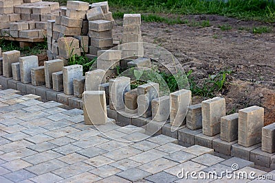
<path fill-rule="evenodd" d="M 101 0 L 84 0 L 89 3 Z M 61 1 L 60 1 L 61 2 Z M 65 2 L 65 1 L 63 1 Z M 237 19 L 275 22 L 275 3 L 267 0 L 109 0 L 115 14 L 155 12 L 162 14 L 219 14 Z"/>

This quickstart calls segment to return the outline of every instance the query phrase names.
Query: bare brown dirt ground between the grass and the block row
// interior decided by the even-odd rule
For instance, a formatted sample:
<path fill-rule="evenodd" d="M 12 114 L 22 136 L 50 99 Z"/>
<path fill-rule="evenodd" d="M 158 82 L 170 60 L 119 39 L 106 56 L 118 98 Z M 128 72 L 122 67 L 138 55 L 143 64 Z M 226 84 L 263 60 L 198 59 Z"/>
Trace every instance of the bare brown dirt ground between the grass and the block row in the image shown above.
<path fill-rule="evenodd" d="M 248 106 L 265 108 L 265 125 L 275 122 L 275 33 L 252 34 L 243 28 L 267 25 L 216 15 L 185 16 L 185 19 L 209 20 L 211 27 L 188 27 L 166 23 L 142 23 L 144 42 L 161 44 L 172 52 L 187 72 L 197 80 L 219 71 L 230 70 L 232 77 L 222 93 L 228 112 Z M 219 25 L 232 29 L 222 31 Z M 116 20 L 114 36 L 122 38 L 122 20 Z M 269 25 L 273 26 L 274 25 Z M 274 28 L 273 28 L 274 29 Z M 203 98 L 195 97 L 195 103 Z"/>

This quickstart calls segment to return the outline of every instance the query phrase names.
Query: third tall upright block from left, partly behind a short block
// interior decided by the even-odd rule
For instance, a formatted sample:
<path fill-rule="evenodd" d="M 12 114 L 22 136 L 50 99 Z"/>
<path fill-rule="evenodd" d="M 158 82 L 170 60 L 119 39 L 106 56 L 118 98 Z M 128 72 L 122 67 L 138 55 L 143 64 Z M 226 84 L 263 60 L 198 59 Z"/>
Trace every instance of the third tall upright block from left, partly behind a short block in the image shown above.
<path fill-rule="evenodd" d="M 47 88 L 52 88 L 52 73 L 63 71 L 64 62 L 61 59 L 49 60 L 44 62 L 45 83 Z"/>

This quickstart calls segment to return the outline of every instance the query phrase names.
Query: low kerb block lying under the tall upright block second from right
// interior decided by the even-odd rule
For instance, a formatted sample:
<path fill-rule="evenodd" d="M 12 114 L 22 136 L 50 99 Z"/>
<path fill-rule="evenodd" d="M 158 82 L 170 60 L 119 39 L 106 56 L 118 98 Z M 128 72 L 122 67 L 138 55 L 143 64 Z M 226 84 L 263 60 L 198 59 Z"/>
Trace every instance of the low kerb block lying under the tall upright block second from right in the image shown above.
<path fill-rule="evenodd" d="M 250 160 L 250 151 L 260 146 L 261 144 L 252 145 L 250 147 L 243 147 L 242 145 L 236 143 L 232 145 L 231 156 L 242 158 L 245 160 Z"/>

